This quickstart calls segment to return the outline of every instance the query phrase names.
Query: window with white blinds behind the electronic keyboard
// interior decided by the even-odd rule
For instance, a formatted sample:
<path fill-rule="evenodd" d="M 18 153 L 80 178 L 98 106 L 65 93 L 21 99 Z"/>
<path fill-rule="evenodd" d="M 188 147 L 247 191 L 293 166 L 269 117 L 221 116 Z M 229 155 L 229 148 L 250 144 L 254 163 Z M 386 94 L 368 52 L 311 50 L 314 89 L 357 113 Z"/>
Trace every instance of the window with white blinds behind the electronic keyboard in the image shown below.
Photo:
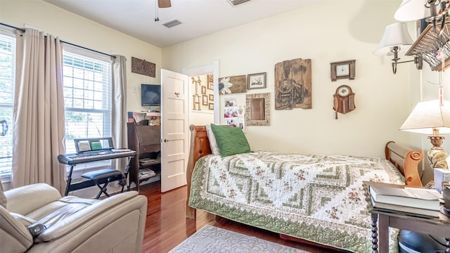
<path fill-rule="evenodd" d="M 111 61 L 97 53 L 65 46 L 63 86 L 66 153 L 74 138 L 111 136 Z"/>

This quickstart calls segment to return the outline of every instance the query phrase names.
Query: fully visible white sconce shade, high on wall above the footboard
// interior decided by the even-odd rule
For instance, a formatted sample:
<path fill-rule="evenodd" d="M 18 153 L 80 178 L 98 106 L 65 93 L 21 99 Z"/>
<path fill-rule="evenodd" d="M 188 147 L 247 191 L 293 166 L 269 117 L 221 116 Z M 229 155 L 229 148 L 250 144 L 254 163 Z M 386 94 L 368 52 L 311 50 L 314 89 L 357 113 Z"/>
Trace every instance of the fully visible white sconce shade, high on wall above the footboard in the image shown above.
<path fill-rule="evenodd" d="M 404 55 L 411 45 L 414 43 L 411 35 L 409 35 L 408 27 L 404 22 L 396 22 L 387 25 L 385 33 L 381 38 L 378 48 L 373 51 L 375 56 L 392 56 L 392 48 L 394 46 L 400 46 L 399 55 Z"/>

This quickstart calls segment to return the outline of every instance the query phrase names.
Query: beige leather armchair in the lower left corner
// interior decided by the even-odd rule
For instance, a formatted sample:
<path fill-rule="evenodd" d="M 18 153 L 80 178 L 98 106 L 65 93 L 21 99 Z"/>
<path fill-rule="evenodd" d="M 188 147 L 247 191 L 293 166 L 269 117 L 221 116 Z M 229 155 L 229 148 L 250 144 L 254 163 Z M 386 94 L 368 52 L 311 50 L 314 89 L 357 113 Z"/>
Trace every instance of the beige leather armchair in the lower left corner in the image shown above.
<path fill-rule="evenodd" d="M 146 212 L 136 191 L 91 200 L 45 183 L 0 187 L 0 252 L 141 252 Z M 34 223 L 46 229 L 33 238 Z"/>

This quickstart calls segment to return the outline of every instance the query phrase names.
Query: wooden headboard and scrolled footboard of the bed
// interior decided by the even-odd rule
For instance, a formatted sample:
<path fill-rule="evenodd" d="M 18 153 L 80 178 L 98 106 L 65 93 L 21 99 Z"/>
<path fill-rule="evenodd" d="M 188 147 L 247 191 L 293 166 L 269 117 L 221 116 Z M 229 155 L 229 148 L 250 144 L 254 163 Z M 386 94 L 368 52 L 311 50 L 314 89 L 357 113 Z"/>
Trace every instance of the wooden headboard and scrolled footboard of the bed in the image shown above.
<path fill-rule="evenodd" d="M 191 195 L 191 177 L 192 171 L 200 157 L 211 154 L 210 141 L 206 133 L 205 126 L 190 125 L 191 130 L 191 148 L 189 151 L 188 167 L 186 171 L 188 198 L 186 200 L 186 217 L 195 219 L 196 209 L 189 207 L 189 196 Z M 418 150 L 409 150 L 390 141 L 385 146 L 385 156 L 392 164 L 399 169 L 405 177 L 405 183 L 411 187 L 422 187 L 418 173 L 418 163 L 422 160 L 422 152 Z"/>

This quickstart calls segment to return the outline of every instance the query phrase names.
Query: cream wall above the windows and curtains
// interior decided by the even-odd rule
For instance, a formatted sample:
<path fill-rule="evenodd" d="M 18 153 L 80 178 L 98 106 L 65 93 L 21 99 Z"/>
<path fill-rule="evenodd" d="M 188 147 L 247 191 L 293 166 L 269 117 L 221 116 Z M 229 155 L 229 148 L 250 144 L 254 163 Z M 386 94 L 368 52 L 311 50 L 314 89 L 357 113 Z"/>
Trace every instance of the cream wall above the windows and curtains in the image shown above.
<path fill-rule="evenodd" d="M 162 49 L 41 0 L 0 1 L 0 22 L 29 25 L 63 41 L 127 57 L 127 110 L 141 111 L 141 84 L 160 84 Z M 131 73 L 131 56 L 156 64 L 156 77 Z"/>

